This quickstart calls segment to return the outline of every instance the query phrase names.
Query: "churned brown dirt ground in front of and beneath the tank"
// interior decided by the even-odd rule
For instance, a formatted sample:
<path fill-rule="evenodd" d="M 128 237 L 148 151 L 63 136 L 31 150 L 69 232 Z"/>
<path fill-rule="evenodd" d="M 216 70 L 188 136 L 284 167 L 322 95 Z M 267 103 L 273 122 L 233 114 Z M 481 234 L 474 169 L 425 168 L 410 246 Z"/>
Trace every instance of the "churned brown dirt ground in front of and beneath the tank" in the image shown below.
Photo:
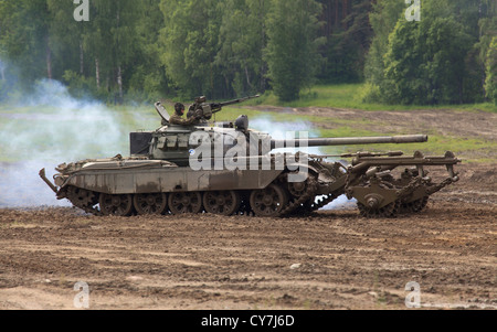
<path fill-rule="evenodd" d="M 94 310 L 406 309 L 411 281 L 424 309 L 496 309 L 496 165 L 456 170 L 398 218 L 353 204 L 289 218 L 1 208 L 0 309 L 75 309 L 78 281 Z"/>

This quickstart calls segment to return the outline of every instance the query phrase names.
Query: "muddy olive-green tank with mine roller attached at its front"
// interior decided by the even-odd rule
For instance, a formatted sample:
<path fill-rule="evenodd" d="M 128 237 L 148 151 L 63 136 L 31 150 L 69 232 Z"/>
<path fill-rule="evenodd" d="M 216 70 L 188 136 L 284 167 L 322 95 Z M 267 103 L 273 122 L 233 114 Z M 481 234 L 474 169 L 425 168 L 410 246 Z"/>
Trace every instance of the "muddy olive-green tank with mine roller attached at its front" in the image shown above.
<path fill-rule="evenodd" d="M 258 96 L 254 96 L 258 97 Z M 353 138 L 273 139 L 248 128 L 246 116 L 210 124 L 226 103 L 198 98 L 191 126 L 170 124 L 161 103 L 155 107 L 162 126 L 130 133 L 130 157 L 87 159 L 56 168 L 54 183 L 40 176 L 59 200 L 96 215 L 213 213 L 220 215 L 288 216 L 308 214 L 340 195 L 355 199 L 364 217 L 392 217 L 422 211 L 430 195 L 458 181 L 452 152 L 424 157 L 400 151 L 316 156 L 275 152 L 279 148 L 424 142 L 424 135 Z M 277 151 L 277 150 L 276 150 Z M 329 158 L 347 159 L 345 165 Z M 434 182 L 425 167 L 445 165 L 448 176 Z M 395 170 L 401 170 L 395 173 Z"/>

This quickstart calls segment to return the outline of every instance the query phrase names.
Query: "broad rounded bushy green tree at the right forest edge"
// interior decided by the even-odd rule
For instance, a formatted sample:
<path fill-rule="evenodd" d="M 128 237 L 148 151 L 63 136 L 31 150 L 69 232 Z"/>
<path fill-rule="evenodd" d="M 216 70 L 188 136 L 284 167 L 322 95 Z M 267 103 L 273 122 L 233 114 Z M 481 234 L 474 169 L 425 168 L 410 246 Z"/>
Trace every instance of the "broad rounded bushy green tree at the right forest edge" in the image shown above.
<path fill-rule="evenodd" d="M 400 20 L 385 54 L 383 95 L 402 104 L 462 103 L 469 41 L 452 17 Z"/>

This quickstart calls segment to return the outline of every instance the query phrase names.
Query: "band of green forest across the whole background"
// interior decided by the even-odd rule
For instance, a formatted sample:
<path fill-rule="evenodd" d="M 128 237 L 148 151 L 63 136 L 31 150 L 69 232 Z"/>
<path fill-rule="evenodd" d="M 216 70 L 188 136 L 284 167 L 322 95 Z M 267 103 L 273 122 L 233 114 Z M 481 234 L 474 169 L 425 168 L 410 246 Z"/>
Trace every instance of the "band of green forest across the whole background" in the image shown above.
<path fill-rule="evenodd" d="M 116 104 L 342 83 L 370 103 L 497 104 L 497 1 L 0 0 L 0 100 L 41 79 Z"/>

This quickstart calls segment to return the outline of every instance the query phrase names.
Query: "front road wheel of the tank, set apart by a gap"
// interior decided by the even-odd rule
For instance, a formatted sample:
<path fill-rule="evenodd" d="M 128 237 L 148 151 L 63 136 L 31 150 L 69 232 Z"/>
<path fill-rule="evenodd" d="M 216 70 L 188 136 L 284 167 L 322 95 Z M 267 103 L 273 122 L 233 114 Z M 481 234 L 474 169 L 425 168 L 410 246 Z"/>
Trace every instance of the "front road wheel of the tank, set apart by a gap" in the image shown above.
<path fill-rule="evenodd" d="M 288 203 L 288 195 L 276 184 L 251 193 L 251 207 L 256 216 L 277 216 Z"/>

